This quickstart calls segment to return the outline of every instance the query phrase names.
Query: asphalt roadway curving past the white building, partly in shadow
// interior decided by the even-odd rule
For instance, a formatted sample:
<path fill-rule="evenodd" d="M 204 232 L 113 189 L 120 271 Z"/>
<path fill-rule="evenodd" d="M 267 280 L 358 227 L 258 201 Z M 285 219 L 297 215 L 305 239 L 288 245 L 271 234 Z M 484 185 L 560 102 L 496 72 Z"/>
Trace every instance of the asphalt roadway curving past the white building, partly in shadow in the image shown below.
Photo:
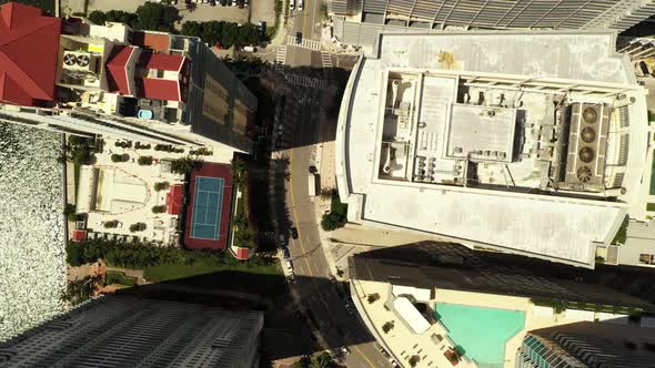
<path fill-rule="evenodd" d="M 303 11 L 292 12 L 291 34 L 302 32 L 304 39 L 320 41 L 321 0 L 304 0 Z M 286 47 L 285 63 L 292 68 L 288 73 L 303 74 L 308 67 L 322 69 L 320 51 L 308 48 Z M 334 81 L 336 83 L 336 81 Z M 350 295 L 347 285 L 330 282 L 330 269 L 319 234 L 313 198 L 309 196 L 309 166 L 314 164 L 314 144 L 325 137 L 322 130 L 320 101 L 324 90 L 286 83 L 283 140 L 286 149 L 282 154 L 289 157 L 289 180 L 285 182 L 285 204 L 293 226 L 298 228 L 298 239 L 289 239 L 291 259 L 296 282 L 292 287 L 300 296 L 301 308 L 312 324 L 319 328 L 329 347 L 337 350 L 346 346 L 351 354 L 345 357 L 349 367 L 390 367 L 389 361 L 377 350 L 375 339 L 360 320 L 356 310 L 349 313 L 344 298 Z M 323 112 L 322 112 L 323 111 Z M 336 121 L 328 121 L 336 124 Z M 333 137 L 332 137 L 333 139 Z"/>

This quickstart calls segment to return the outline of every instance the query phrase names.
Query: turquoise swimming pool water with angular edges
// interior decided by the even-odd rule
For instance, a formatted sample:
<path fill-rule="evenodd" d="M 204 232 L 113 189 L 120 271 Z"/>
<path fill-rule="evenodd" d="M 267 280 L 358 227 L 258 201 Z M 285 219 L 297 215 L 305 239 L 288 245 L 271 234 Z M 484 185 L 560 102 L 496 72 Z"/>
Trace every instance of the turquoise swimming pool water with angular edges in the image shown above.
<path fill-rule="evenodd" d="M 455 345 L 480 367 L 503 367 L 505 343 L 525 325 L 525 313 L 517 310 L 437 303 L 434 314 Z"/>

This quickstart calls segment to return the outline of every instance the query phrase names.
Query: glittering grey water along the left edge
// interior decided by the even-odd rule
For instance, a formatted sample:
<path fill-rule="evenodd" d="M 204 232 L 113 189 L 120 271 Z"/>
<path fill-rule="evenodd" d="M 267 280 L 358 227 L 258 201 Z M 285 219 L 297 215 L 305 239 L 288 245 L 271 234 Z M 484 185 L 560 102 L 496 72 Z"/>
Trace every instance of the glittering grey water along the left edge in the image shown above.
<path fill-rule="evenodd" d="M 0 341 L 66 307 L 60 137 L 0 123 Z"/>

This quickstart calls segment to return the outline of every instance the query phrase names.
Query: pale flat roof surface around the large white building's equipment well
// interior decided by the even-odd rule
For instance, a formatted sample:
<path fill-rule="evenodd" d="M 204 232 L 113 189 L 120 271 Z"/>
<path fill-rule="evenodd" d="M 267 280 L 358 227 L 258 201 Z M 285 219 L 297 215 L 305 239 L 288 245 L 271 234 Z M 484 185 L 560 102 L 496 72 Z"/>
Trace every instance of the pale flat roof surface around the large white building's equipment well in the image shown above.
<path fill-rule="evenodd" d="M 577 266 L 593 267 L 596 244 L 612 241 L 627 213 L 628 203 L 580 200 L 558 195 L 475 190 L 468 187 L 377 180 L 375 157 L 387 71 L 410 73 L 457 72 L 522 79 L 548 79 L 574 84 L 606 84 L 638 89 L 627 58 L 615 52 L 612 32 L 468 32 L 440 34 L 382 34 L 375 58 L 364 58 L 351 75 L 343 99 L 336 136 L 336 175 L 342 200 L 352 198 L 349 211 L 371 225 L 401 226 L 437 233 L 472 244 L 488 245 Z M 425 78 L 425 91 L 432 88 Z M 646 134 L 645 92 L 635 90 L 631 130 Z M 449 93 L 420 106 L 421 119 L 441 120 L 455 103 Z M 511 109 L 508 109 L 511 111 Z M 465 112 L 460 112 L 460 116 Z M 441 120 L 442 123 L 447 123 Z M 475 125 L 475 124 L 473 124 Z M 643 125 L 643 126 L 642 126 Z M 505 139 L 466 136 L 464 126 L 453 142 L 500 151 Z M 485 133 L 486 134 L 486 133 Z M 491 134 L 491 133 L 490 133 Z M 498 131 L 493 136 L 506 136 Z M 632 134 L 632 133 L 631 133 Z M 641 134 L 641 133 L 639 133 Z M 434 136 L 432 136 L 434 135 Z M 443 142 L 439 130 L 425 142 Z M 421 139 L 421 137 L 420 137 Z M 638 185 L 645 140 L 634 140 L 626 175 L 628 195 Z M 644 142 L 642 142 L 644 141 Z M 632 144 L 632 142 L 631 142 Z M 493 149 L 492 147 L 496 147 Z M 639 163 L 641 162 L 641 163 Z M 628 177 L 629 176 L 629 177 Z M 634 177 L 633 177 L 634 176 Z M 357 207 L 357 208 L 355 208 Z M 354 217 L 351 217 L 354 218 Z"/>

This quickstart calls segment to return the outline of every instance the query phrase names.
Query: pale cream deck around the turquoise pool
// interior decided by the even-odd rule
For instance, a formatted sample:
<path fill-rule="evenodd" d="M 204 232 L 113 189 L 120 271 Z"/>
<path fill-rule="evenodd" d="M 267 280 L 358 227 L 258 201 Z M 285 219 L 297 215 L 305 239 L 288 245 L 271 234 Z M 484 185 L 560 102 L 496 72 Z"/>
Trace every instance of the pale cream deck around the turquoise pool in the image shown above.
<path fill-rule="evenodd" d="M 370 294 L 379 294 L 380 300 L 369 304 L 366 297 Z M 364 319 L 371 333 L 377 341 L 386 348 L 403 366 L 409 367 L 409 358 L 419 355 L 422 359 L 416 367 L 425 368 L 447 368 L 453 367 L 444 357 L 443 351 L 454 346 L 447 337 L 447 330 L 440 323 L 433 324 L 430 329 L 423 334 L 414 334 L 396 314 L 384 308 L 384 304 L 390 299 L 390 284 L 351 280 L 351 294 L 353 301 Z M 458 292 L 449 289 L 435 289 L 435 298 L 429 301 L 432 307 L 434 304 L 447 303 L 484 308 L 498 308 L 520 310 L 525 313 L 525 325 L 514 337 L 505 344 L 505 367 L 514 367 L 515 354 L 523 343 L 523 338 L 528 330 L 545 328 L 556 325 L 571 324 L 581 319 L 565 318 L 564 314 L 553 314 L 552 316 L 540 316 L 535 313 L 535 306 L 525 297 L 502 296 L 493 294 L 481 294 L 470 292 Z M 394 324 L 393 329 L 384 334 L 382 326 L 387 321 Z M 483 334 L 484 331 L 480 331 Z M 433 335 L 439 334 L 442 341 L 435 341 Z M 464 347 L 465 348 L 465 347 Z M 425 356 L 425 359 L 423 357 Z M 432 362 L 431 365 L 429 365 Z M 462 360 L 456 367 L 467 368 L 476 367 L 474 361 Z"/>

